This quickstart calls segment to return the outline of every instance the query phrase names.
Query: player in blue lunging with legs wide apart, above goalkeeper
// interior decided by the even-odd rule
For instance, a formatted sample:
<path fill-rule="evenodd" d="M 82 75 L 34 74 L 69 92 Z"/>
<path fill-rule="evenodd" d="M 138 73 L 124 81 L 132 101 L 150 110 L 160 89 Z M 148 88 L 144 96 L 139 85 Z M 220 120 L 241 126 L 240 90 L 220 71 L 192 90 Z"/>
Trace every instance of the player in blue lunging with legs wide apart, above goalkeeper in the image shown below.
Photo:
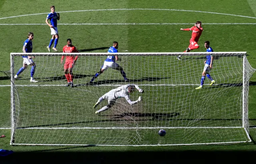
<path fill-rule="evenodd" d="M 118 53 L 118 42 L 114 41 L 113 42 L 113 46 L 110 47 L 108 49 L 108 53 Z M 104 70 L 107 70 L 109 67 L 111 67 L 112 69 L 115 70 L 119 70 L 120 73 L 122 74 L 122 76 L 124 77 L 125 81 L 128 81 L 128 79 L 126 78 L 126 74 L 123 70 L 123 68 L 121 66 L 119 66 L 119 64 L 116 63 L 116 61 L 118 61 L 120 59 L 118 59 L 117 55 L 113 55 L 113 56 L 108 56 L 107 59 L 104 61 L 103 66 L 101 67 L 100 71 L 97 72 L 93 78 L 90 80 L 89 84 L 92 84 L 92 82 L 98 77 L 100 76 L 100 74 L 102 74 L 104 72 Z"/>

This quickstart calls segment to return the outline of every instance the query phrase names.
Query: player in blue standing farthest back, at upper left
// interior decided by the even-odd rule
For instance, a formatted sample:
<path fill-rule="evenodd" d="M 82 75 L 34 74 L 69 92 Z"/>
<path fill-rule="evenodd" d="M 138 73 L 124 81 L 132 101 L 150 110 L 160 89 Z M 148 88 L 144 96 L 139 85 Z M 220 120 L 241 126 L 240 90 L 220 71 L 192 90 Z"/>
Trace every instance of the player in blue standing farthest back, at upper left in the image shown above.
<path fill-rule="evenodd" d="M 58 28 L 57 28 L 57 20 L 60 20 L 60 14 L 55 12 L 55 7 L 51 6 L 50 9 L 51 9 L 51 12 L 47 15 L 47 18 L 45 20 L 45 22 L 48 24 L 48 26 L 51 29 L 51 35 L 52 35 L 52 39 L 50 40 L 50 44 L 49 44 L 49 46 L 46 47 L 49 52 L 51 52 L 50 48 L 52 46 L 53 41 L 54 41 L 54 46 L 52 47 L 52 49 L 54 51 L 58 51 L 56 49 L 58 39 L 59 39 Z M 48 22 L 48 20 L 50 20 L 51 24 Z"/>

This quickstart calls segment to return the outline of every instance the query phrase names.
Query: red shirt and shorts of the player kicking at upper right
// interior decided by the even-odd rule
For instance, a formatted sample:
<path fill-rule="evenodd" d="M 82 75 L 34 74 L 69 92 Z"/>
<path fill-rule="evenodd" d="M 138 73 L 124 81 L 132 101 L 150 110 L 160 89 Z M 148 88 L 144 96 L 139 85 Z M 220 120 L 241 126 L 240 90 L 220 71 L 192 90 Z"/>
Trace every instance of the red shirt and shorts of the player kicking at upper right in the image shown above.
<path fill-rule="evenodd" d="M 191 28 L 188 28 L 188 29 L 184 29 L 184 31 L 192 31 L 192 36 L 191 36 L 191 39 L 190 39 L 190 45 L 188 46 L 190 48 L 190 50 L 193 50 L 193 49 L 198 49 L 199 48 L 199 45 L 197 44 L 201 34 L 202 34 L 202 31 L 203 31 L 203 27 L 196 27 L 196 26 L 193 26 Z"/>

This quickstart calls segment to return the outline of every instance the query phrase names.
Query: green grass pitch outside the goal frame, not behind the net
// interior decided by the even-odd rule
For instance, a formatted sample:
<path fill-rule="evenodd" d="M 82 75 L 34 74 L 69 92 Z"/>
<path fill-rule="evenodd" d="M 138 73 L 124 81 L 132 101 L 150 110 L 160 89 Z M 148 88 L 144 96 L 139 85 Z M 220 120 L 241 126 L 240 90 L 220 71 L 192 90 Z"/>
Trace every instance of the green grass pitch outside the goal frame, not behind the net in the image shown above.
<path fill-rule="evenodd" d="M 196 1 L 200 5 L 191 1 L 163 1 L 155 3 L 155 1 L 108 1 L 108 2 L 76 2 L 75 6 L 67 5 L 71 2 L 52 2 L 52 1 L 27 1 L 12 2 L 3 1 L 1 3 L 1 18 L 8 16 L 18 16 L 24 14 L 47 13 L 50 12 L 50 5 L 56 6 L 56 12 L 72 11 L 72 10 L 94 10 L 94 9 L 112 9 L 112 8 L 162 8 L 162 9 L 178 9 L 178 10 L 194 10 L 227 13 L 243 16 L 255 17 L 255 2 L 251 0 L 242 1 Z M 28 11 L 29 4 L 29 11 Z M 48 4 L 48 5 L 46 5 Z M 85 5 L 86 4 L 86 5 Z M 191 5 L 188 5 L 191 4 Z M 232 4 L 229 8 L 225 8 L 228 4 Z M 209 5 L 211 6 L 209 8 Z M 39 7 L 40 6 L 40 7 Z M 43 6 L 43 7 L 41 7 Z M 8 18 L 0 20 L 0 23 L 45 23 L 47 14 L 24 16 L 18 18 Z M 97 11 L 97 12 L 73 12 L 60 13 L 61 20 L 58 23 L 194 23 L 197 20 L 202 23 L 256 23 L 255 19 L 242 18 L 236 16 L 226 16 L 209 13 L 197 12 L 178 12 L 178 11 L 155 11 L 155 10 L 118 10 L 118 11 Z M 73 19 L 72 19 L 73 16 Z M 114 18 L 113 18 L 114 17 Z M 96 49 L 90 52 L 106 52 L 106 49 L 98 49 L 101 47 L 111 46 L 112 41 L 119 42 L 119 52 L 182 52 L 189 44 L 191 32 L 180 31 L 180 28 L 189 28 L 190 25 L 58 25 L 60 31 L 60 39 L 57 48 L 62 49 L 66 45 L 66 39 L 71 38 L 73 45 L 78 49 L 86 50 Z M 194 52 L 205 52 L 203 43 L 209 40 L 214 51 L 247 51 L 248 61 L 252 67 L 256 68 L 254 54 L 255 48 L 252 46 L 254 42 L 255 25 L 204 25 L 204 31 L 198 42 L 200 48 Z M 1 25 L 1 37 L 5 41 L 0 56 L 0 70 L 10 68 L 10 53 L 22 52 L 22 44 L 26 39 L 28 31 L 34 32 L 33 52 L 45 52 L 46 46 L 50 41 L 50 29 L 47 25 Z M 128 50 L 128 51 L 125 51 Z M 124 68 L 125 69 L 125 68 Z M 28 70 L 25 70 L 28 71 Z M 126 71 L 127 72 L 127 71 Z M 5 76 L 0 74 L 0 76 Z M 35 74 L 36 76 L 36 74 Z M 198 83 L 200 74 L 198 74 Z M 9 85 L 10 81 L 2 78 L 1 85 Z M 255 107 L 255 85 L 256 75 L 250 79 L 249 89 L 249 119 L 250 125 L 256 124 Z M 10 87 L 1 87 L 1 110 L 0 120 L 1 127 L 10 127 Z M 0 139 L 0 146 L 3 149 L 14 151 L 35 151 L 58 149 L 48 146 L 9 146 L 8 133 L 10 130 L 0 129 L 1 134 L 7 137 Z M 250 134 L 254 137 L 254 129 L 250 129 Z M 3 142 L 2 142 L 3 141 Z M 1 145 L 2 144 L 2 145 Z M 238 145 L 208 145 L 208 146 L 166 146 L 166 147 L 78 147 L 68 148 L 70 151 L 104 151 L 104 150 L 255 150 L 253 143 Z M 64 148 L 64 147 L 61 147 Z M 60 149 L 60 151 L 66 149 Z"/>

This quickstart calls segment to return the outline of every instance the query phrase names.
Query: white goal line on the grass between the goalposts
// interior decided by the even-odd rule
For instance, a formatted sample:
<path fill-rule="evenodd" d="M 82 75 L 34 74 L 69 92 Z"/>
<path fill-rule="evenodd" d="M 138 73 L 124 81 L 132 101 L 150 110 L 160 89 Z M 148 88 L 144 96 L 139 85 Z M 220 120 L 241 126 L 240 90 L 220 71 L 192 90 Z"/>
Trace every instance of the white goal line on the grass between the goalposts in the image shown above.
<path fill-rule="evenodd" d="M 18 127 L 17 129 L 234 129 L 243 127 Z"/>

